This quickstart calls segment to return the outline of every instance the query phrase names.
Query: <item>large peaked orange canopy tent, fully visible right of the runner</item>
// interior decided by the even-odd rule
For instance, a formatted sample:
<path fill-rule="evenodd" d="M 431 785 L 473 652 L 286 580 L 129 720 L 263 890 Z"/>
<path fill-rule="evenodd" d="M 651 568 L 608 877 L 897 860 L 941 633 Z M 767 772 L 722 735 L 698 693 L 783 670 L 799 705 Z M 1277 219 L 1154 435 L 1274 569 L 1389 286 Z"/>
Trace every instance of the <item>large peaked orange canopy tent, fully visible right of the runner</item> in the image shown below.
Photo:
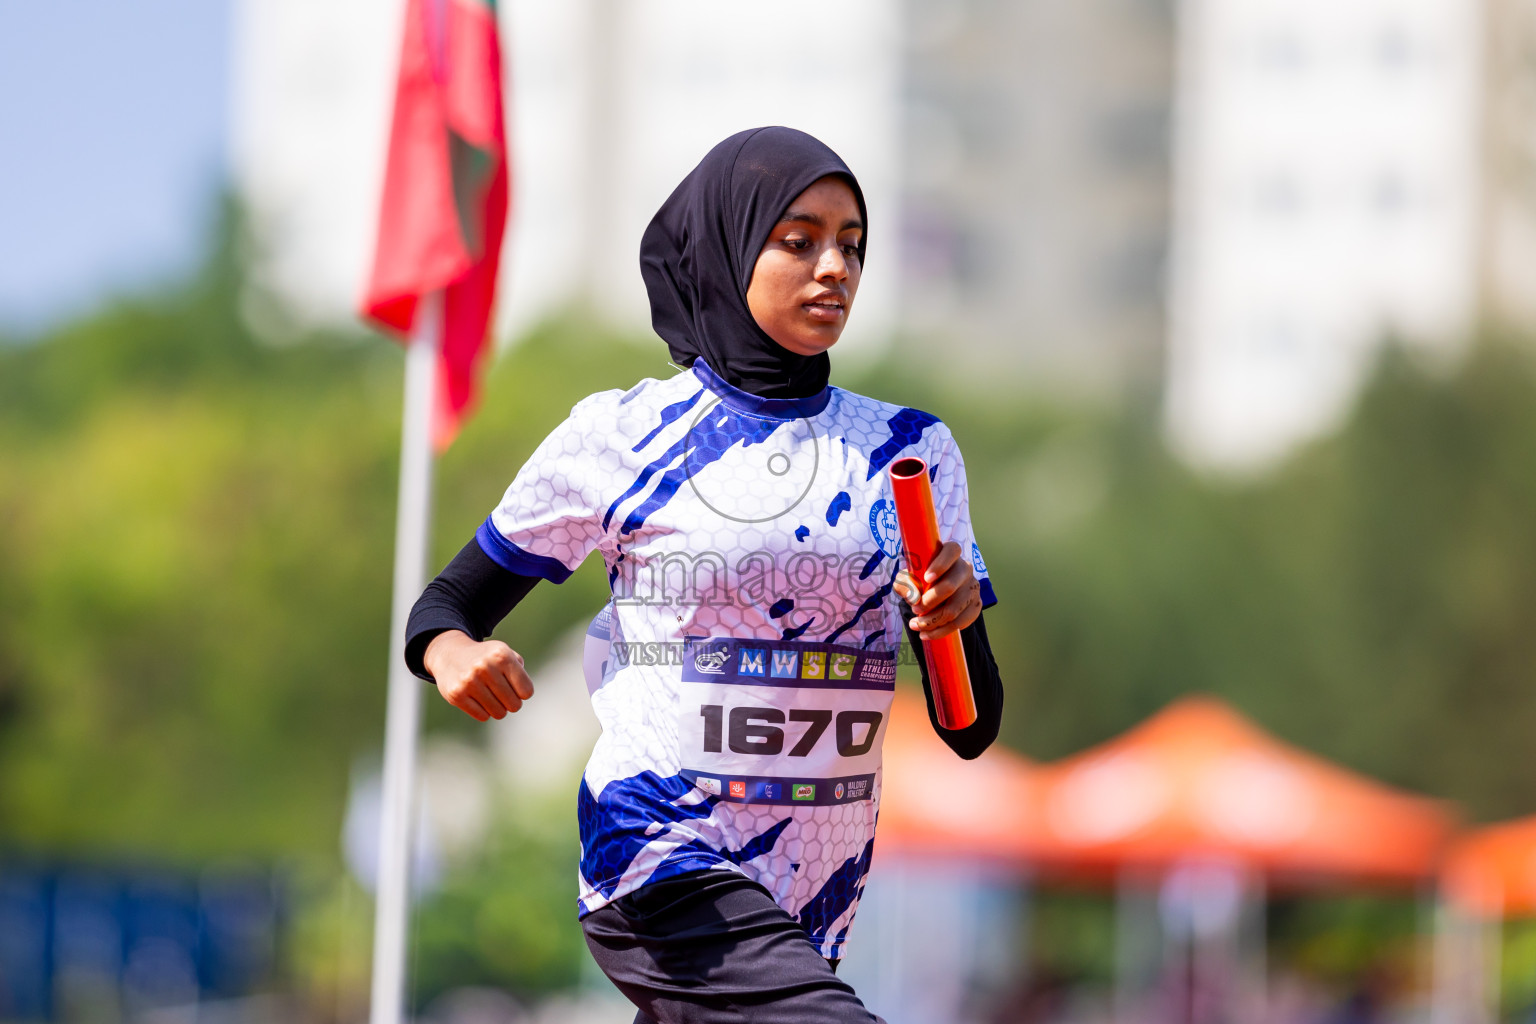
<path fill-rule="evenodd" d="M 1037 846 L 1072 870 L 1215 858 L 1270 878 L 1432 877 L 1453 821 L 1290 748 L 1210 697 L 1180 700 L 1032 780 Z"/>

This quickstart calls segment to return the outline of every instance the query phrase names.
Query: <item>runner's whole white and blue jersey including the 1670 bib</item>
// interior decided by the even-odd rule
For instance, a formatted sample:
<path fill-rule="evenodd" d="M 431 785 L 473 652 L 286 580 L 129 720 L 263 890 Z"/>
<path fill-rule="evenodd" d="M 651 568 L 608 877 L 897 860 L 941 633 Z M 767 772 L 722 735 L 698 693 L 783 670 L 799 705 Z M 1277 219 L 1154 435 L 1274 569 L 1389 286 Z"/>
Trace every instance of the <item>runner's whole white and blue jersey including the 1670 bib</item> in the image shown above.
<path fill-rule="evenodd" d="M 613 591 L 588 683 L 584 915 L 734 870 L 842 955 L 905 640 L 885 474 L 902 456 L 928 462 L 940 536 L 992 605 L 949 430 L 836 387 L 762 399 L 699 361 L 578 402 L 507 488 L 476 534 L 487 556 L 559 583 L 596 550 Z"/>

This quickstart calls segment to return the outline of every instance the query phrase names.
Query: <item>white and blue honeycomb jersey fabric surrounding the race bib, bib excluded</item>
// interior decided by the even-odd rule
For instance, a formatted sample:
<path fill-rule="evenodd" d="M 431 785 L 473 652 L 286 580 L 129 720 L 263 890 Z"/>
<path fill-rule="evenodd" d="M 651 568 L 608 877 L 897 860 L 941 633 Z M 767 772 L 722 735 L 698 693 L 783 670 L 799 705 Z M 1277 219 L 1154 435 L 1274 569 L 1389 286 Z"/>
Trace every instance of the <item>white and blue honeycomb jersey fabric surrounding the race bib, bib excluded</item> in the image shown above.
<path fill-rule="evenodd" d="M 839 388 L 814 416 L 774 419 L 693 373 L 642 381 L 584 399 L 538 447 L 490 522 L 533 556 L 574 570 L 596 550 L 610 571 L 611 674 L 593 694 L 604 731 L 588 797 L 680 771 L 677 663 L 627 662 L 619 645 L 905 642 L 889 593 L 897 560 L 879 554 L 869 525 L 889 494 L 880 470 L 902 454 L 935 467 L 940 531 L 969 553 L 965 467 L 948 427 Z M 971 562 L 983 565 L 978 551 Z M 659 795 L 670 792 L 624 811 L 584 801 L 587 909 L 679 866 L 739 869 L 805 913 L 825 955 L 840 949 L 868 870 L 879 775 L 872 800 L 831 806 L 708 801 L 691 788 Z M 753 843 L 766 852 L 743 857 Z"/>

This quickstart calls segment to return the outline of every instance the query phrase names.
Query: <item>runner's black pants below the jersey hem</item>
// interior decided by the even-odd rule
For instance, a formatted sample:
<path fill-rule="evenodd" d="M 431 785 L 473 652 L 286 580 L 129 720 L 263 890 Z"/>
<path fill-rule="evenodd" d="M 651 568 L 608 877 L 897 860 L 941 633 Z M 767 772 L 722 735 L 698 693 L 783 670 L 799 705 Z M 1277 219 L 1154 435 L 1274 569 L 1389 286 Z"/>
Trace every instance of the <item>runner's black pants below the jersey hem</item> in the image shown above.
<path fill-rule="evenodd" d="M 885 1024 L 768 890 L 734 872 L 668 878 L 582 918 L 634 1024 Z"/>

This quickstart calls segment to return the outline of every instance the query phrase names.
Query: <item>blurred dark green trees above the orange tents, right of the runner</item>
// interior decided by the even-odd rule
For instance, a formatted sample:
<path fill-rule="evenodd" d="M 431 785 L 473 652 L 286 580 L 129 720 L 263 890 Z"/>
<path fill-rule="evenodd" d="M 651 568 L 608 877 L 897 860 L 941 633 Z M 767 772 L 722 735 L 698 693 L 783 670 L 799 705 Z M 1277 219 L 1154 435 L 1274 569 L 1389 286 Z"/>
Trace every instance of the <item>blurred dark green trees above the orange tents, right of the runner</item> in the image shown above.
<path fill-rule="evenodd" d="M 943 401 L 972 464 L 1006 735 L 1051 758 L 1180 694 L 1471 818 L 1536 812 L 1536 367 L 1389 348 L 1332 436 L 1212 479 L 1135 415 Z M 974 467 L 982 467 L 980 471 Z"/>

